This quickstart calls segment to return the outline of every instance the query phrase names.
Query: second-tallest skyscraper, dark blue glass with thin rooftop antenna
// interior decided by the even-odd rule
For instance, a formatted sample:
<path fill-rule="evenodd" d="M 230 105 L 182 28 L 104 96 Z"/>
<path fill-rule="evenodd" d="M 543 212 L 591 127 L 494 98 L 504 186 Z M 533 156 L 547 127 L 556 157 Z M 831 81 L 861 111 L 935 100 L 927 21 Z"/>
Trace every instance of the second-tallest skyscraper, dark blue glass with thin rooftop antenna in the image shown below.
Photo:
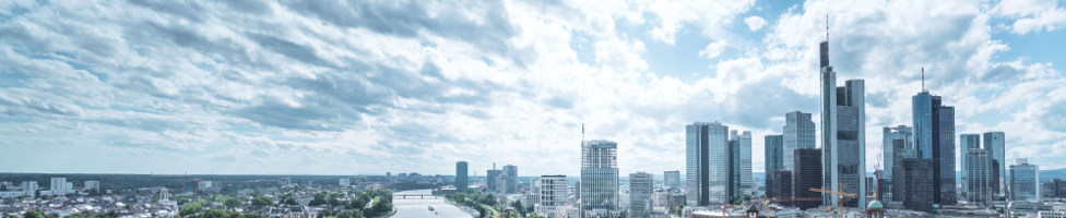
<path fill-rule="evenodd" d="M 945 106 L 940 96 L 922 90 L 913 101 L 914 141 L 922 158 L 933 160 L 933 202 L 954 205 L 955 196 L 955 107 Z"/>

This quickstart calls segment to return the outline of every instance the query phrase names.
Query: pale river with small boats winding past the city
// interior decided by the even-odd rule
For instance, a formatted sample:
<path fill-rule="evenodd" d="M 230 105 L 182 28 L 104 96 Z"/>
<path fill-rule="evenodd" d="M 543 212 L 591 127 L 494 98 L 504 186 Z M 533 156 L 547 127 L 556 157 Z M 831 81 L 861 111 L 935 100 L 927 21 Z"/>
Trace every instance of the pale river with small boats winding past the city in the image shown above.
<path fill-rule="evenodd" d="M 396 196 L 401 194 L 425 194 L 429 195 L 433 193 L 430 190 L 414 190 L 414 191 L 403 191 L 393 193 L 392 206 L 395 207 L 396 214 L 392 217 L 394 218 L 460 218 L 460 217 L 473 217 L 466 214 L 459 207 L 448 204 L 445 202 L 443 196 L 426 196 L 425 198 L 418 196 L 407 196 L 406 198 L 402 196 Z M 433 206 L 434 210 L 430 211 L 429 207 Z"/>

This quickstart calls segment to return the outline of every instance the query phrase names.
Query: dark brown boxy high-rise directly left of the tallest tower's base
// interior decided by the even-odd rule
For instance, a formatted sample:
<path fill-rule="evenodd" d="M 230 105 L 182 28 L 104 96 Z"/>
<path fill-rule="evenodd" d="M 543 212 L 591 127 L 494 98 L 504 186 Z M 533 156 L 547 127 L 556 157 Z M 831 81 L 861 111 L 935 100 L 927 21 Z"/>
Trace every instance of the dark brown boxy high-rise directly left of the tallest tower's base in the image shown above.
<path fill-rule="evenodd" d="M 821 189 L 821 149 L 818 148 L 798 148 L 793 150 L 793 157 L 795 157 L 795 162 L 793 166 L 796 167 L 795 174 L 793 174 L 795 183 L 793 186 L 793 197 L 795 198 L 817 198 L 821 194 L 810 191 L 810 189 Z M 818 201 L 807 201 L 807 202 L 793 202 L 793 205 L 802 209 L 809 209 L 818 207 L 821 202 Z"/>

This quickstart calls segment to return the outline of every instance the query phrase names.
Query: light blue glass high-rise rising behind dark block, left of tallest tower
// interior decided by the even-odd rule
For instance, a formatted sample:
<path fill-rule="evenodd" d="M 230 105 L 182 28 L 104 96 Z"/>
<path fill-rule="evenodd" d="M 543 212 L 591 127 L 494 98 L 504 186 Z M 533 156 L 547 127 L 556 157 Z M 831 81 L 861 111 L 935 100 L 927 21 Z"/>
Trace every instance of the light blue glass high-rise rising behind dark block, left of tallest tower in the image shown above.
<path fill-rule="evenodd" d="M 784 170 L 792 171 L 793 166 L 792 150 L 800 148 L 815 148 L 815 122 L 810 119 L 810 113 L 792 111 L 784 114 L 784 126 L 782 128 L 782 165 Z M 768 171 L 769 172 L 769 171 Z"/>

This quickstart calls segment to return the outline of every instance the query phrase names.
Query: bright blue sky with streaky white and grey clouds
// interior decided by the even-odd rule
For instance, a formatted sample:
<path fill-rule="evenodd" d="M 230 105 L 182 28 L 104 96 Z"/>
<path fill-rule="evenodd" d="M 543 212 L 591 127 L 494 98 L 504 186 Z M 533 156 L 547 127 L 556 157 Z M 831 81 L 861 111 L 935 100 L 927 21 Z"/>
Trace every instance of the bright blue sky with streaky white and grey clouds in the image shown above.
<path fill-rule="evenodd" d="M 827 37 L 868 170 L 923 68 L 957 134 L 1066 168 L 1063 28 L 1066 0 L 2 1 L 0 172 L 577 175 L 584 138 L 660 174 L 697 121 L 760 172 L 786 112 L 820 119 Z"/>

